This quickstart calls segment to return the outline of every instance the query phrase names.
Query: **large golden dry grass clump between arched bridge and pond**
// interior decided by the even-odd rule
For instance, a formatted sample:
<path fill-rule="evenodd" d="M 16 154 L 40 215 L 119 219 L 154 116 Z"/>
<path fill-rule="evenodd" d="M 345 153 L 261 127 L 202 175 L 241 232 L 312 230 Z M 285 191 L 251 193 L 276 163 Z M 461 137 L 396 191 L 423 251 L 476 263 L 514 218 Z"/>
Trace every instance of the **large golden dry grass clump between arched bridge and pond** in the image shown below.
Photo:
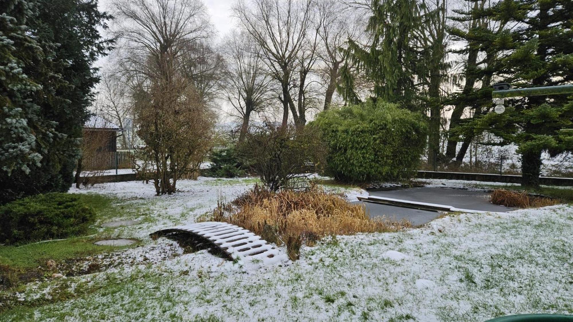
<path fill-rule="evenodd" d="M 371 219 L 363 206 L 316 187 L 274 193 L 258 185 L 230 204 L 219 205 L 214 220 L 245 227 L 277 245 L 286 244 L 292 260 L 298 257 L 297 250 L 291 253 L 293 248 L 312 246 L 327 235 L 396 231 L 411 226 L 405 221 Z"/>

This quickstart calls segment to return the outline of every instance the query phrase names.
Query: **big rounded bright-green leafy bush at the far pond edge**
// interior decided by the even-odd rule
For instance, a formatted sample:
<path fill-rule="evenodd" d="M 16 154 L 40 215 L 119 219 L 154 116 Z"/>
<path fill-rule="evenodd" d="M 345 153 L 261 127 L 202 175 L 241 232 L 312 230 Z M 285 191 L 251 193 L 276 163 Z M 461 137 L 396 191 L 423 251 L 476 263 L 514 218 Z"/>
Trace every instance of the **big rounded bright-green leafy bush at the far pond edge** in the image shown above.
<path fill-rule="evenodd" d="M 343 182 L 411 178 L 426 144 L 421 114 L 381 100 L 321 112 L 311 124 L 328 146 L 325 174 Z"/>

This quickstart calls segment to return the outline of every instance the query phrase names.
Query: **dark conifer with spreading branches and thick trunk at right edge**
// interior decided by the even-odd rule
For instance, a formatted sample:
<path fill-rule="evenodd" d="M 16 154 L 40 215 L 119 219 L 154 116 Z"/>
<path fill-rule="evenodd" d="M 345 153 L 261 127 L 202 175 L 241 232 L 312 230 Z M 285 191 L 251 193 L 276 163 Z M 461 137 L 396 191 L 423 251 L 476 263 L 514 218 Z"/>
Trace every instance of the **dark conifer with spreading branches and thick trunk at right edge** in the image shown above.
<path fill-rule="evenodd" d="M 568 0 L 504 0 L 515 2 L 513 42 L 500 76 L 514 88 L 573 83 L 573 2 Z M 527 12 L 528 14 L 523 14 Z M 506 112 L 490 113 L 478 128 L 515 143 L 521 154 L 524 186 L 539 185 L 541 154 L 573 150 L 573 138 L 560 131 L 573 127 L 572 97 L 548 95 L 506 100 Z"/>

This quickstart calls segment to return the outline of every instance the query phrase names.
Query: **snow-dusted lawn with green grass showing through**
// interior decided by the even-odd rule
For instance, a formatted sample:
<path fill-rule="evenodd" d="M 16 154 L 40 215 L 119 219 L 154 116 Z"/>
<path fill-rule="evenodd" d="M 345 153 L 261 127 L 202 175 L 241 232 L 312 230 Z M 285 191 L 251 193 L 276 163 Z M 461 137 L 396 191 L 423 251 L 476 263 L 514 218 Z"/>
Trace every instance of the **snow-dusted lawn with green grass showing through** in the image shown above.
<path fill-rule="evenodd" d="M 205 251 L 183 254 L 148 234 L 193 223 L 253 179 L 182 180 L 156 197 L 140 182 L 100 184 L 142 224 L 115 230 L 142 245 L 101 256 L 100 273 L 31 284 L 22 303 L 66 288 L 66 300 L 15 308 L 0 320 L 483 321 L 515 313 L 573 313 L 573 207 L 455 214 L 398 233 L 328 238 L 295 263 L 256 267 Z M 344 189 L 343 189 L 344 190 Z M 359 189 L 346 191 L 364 194 Z M 109 218 L 113 218 L 110 214 Z"/>

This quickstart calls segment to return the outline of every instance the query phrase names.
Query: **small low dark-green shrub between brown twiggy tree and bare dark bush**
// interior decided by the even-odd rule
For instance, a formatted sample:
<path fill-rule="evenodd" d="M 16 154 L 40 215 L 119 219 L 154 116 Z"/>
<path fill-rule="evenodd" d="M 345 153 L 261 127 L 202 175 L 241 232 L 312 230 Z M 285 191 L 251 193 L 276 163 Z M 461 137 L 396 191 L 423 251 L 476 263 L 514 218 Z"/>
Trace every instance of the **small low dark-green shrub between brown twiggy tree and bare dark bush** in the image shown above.
<path fill-rule="evenodd" d="M 246 176 L 245 166 L 237 156 L 234 147 L 213 151 L 209 156 L 211 167 L 202 171 L 204 176 L 214 178 L 236 178 Z"/>

